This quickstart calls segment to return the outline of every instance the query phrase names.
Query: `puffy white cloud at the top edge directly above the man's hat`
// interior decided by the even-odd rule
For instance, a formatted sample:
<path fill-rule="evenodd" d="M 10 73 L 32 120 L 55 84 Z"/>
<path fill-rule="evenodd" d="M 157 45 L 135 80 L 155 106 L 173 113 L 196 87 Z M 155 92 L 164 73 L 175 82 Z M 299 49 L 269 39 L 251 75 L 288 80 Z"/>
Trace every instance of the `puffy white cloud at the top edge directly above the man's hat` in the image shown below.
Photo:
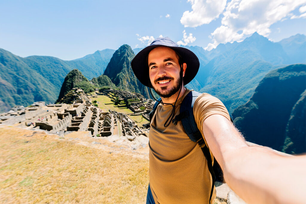
<path fill-rule="evenodd" d="M 181 24 L 185 27 L 197 27 L 209 24 L 219 17 L 226 6 L 226 0 L 188 0 L 192 11 L 185 11 L 181 17 Z"/>

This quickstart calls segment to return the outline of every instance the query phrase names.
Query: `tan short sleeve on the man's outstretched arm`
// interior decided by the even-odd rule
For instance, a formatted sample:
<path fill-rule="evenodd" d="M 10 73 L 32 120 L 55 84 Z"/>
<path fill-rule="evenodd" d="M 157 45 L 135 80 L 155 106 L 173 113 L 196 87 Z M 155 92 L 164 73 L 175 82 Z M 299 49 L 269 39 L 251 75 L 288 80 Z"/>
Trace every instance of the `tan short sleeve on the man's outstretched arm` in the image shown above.
<path fill-rule="evenodd" d="M 230 115 L 226 107 L 218 98 L 207 93 L 198 96 L 193 105 L 193 115 L 199 130 L 203 130 L 203 121 L 214 114 L 222 115 L 230 120 Z M 201 133 L 205 140 L 203 131 Z M 207 144 L 206 140 L 205 143 Z"/>

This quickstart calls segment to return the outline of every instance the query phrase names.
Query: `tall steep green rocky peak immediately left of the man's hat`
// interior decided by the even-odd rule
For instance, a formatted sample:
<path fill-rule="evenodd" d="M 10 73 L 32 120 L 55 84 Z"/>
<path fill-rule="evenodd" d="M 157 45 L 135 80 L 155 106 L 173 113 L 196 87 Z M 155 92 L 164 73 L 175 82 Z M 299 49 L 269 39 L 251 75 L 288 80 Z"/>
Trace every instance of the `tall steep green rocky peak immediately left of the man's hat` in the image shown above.
<path fill-rule="evenodd" d="M 115 51 L 108 63 L 104 75 L 108 76 L 119 89 L 142 94 L 150 98 L 148 88 L 144 86 L 134 75 L 131 61 L 135 56 L 129 45 L 122 45 Z"/>

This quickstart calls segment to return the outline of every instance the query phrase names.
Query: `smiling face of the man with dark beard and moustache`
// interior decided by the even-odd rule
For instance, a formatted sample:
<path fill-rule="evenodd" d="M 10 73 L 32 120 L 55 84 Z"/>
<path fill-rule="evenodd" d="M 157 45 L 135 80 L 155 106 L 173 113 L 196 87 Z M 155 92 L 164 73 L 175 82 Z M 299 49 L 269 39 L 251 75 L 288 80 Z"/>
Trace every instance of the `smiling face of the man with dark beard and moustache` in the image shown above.
<path fill-rule="evenodd" d="M 168 47 L 157 47 L 148 55 L 149 77 L 151 84 L 161 97 L 169 98 L 180 89 L 181 67 L 177 54 Z M 182 74 L 185 75 L 186 64 L 183 64 Z"/>

